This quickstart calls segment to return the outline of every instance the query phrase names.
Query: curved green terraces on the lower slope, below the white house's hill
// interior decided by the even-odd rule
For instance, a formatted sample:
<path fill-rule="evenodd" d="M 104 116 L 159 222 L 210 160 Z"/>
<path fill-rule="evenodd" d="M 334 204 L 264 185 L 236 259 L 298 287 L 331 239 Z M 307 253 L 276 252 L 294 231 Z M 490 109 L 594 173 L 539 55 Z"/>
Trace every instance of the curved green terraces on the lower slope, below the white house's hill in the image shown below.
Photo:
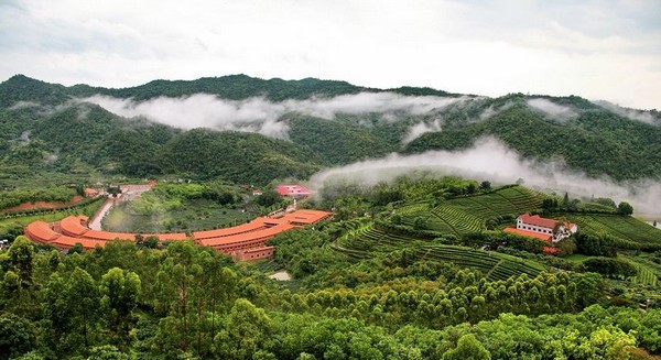
<path fill-rule="evenodd" d="M 458 266 L 476 269 L 488 280 L 506 280 L 510 276 L 528 274 L 537 276 L 544 266 L 502 253 L 476 250 L 465 247 L 435 244 L 430 241 L 387 233 L 371 226 L 351 236 L 342 238 L 335 249 L 355 259 L 365 259 L 372 252 L 387 252 L 415 244 L 414 252 L 420 259 L 452 262 Z"/>

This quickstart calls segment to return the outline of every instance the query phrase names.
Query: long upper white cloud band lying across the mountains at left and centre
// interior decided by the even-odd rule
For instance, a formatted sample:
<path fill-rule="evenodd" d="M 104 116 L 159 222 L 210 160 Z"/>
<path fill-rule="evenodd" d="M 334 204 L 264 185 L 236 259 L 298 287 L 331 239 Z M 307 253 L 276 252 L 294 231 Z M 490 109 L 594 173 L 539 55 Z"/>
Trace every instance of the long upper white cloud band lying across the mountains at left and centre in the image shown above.
<path fill-rule="evenodd" d="M 181 98 L 159 97 L 147 101 L 93 96 L 82 99 L 96 103 L 121 117 L 144 117 L 176 128 L 209 128 L 257 132 L 286 139 L 289 127 L 280 121 L 288 112 L 299 112 L 323 119 L 338 113 L 360 114 L 379 112 L 394 121 L 398 113 L 424 114 L 441 110 L 464 98 L 436 96 L 403 96 L 392 92 L 360 92 L 332 98 L 311 98 L 273 102 L 263 97 L 227 100 L 208 94 Z M 433 126 L 430 129 L 434 129 Z M 418 129 L 415 131 L 420 131 Z"/>

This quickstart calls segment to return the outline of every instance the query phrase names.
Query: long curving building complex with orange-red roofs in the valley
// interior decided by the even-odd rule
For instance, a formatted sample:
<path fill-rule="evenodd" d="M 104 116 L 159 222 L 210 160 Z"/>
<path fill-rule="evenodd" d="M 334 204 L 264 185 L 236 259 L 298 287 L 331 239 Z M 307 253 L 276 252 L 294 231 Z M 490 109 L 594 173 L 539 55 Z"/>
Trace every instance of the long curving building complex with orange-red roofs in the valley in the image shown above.
<path fill-rule="evenodd" d="M 195 243 L 212 247 L 237 260 L 258 260 L 270 258 L 273 247 L 266 242 L 277 234 L 294 228 L 313 225 L 328 219 L 333 214 L 318 210 L 296 210 L 281 218 L 259 217 L 231 228 L 195 231 L 191 239 Z M 69 216 L 59 221 L 47 223 L 34 221 L 25 227 L 25 236 L 36 243 L 52 244 L 58 249 L 71 249 L 80 243 L 84 249 L 105 247 L 115 240 L 136 241 L 137 233 L 91 230 L 86 216 Z M 185 233 L 140 233 L 141 237 L 156 237 L 160 242 L 188 239 Z"/>

